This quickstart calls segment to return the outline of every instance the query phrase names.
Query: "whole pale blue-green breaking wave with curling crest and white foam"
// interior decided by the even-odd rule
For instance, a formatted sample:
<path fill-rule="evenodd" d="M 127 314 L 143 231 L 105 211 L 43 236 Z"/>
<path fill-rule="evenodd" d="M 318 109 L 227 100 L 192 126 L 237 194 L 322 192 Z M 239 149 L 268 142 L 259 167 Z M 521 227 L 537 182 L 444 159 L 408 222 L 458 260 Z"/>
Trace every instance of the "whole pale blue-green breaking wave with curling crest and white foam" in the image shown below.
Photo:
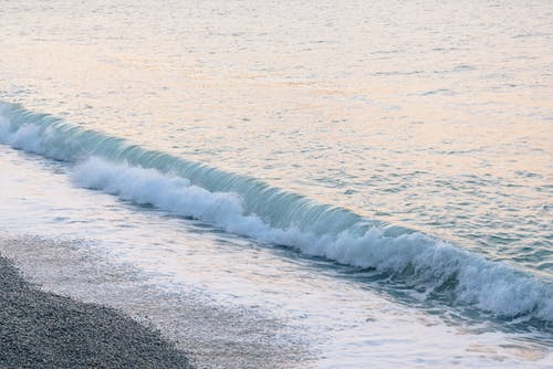
<path fill-rule="evenodd" d="M 67 161 L 75 184 L 102 190 L 227 232 L 304 254 L 409 278 L 451 304 L 501 318 L 553 321 L 549 280 L 491 262 L 444 240 L 365 219 L 51 115 L 0 103 L 0 141 Z M 446 292 L 446 293 L 445 293 Z"/>

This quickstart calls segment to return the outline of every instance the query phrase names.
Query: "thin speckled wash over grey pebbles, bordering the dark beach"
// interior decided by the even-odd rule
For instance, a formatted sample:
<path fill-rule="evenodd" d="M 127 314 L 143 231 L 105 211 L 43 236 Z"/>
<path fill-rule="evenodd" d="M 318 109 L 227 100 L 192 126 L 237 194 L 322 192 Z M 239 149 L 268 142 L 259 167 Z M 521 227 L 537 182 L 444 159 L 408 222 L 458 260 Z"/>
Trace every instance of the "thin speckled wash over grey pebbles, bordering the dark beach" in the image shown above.
<path fill-rule="evenodd" d="M 248 306 L 215 303 L 209 295 L 186 285 L 178 291 L 166 288 L 158 284 L 155 274 L 111 259 L 106 250 L 93 244 L 84 240 L 14 235 L 0 230 L 0 296 L 7 289 L 3 265 L 11 265 L 19 283 L 43 293 L 41 297 L 55 296 L 81 304 L 83 309 L 92 306 L 116 313 L 148 334 L 154 331 L 184 355 L 192 368 L 314 366 L 316 354 L 302 337 L 289 330 L 285 321 Z M 14 288 L 13 282 L 8 285 L 8 289 Z M 4 308 L 0 305 L 0 309 Z M 2 315 L 0 328 L 1 319 Z M 3 333 L 3 328 L 0 331 Z M 0 367 L 3 367 L 2 360 L 0 354 Z M 108 367 L 188 368 L 166 363 Z"/>

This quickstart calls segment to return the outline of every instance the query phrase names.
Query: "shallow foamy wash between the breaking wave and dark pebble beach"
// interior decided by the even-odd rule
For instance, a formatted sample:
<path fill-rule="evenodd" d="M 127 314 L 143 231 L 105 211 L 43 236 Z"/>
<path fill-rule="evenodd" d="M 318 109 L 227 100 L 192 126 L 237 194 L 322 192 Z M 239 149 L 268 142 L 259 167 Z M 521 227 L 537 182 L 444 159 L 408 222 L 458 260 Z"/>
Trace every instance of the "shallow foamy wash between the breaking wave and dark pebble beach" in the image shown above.
<path fill-rule="evenodd" d="M 202 367 L 551 362 L 543 333 L 424 307 L 327 261 L 73 188 L 64 164 L 4 147 L 1 159 L 2 254 L 50 291 L 154 324 Z"/>

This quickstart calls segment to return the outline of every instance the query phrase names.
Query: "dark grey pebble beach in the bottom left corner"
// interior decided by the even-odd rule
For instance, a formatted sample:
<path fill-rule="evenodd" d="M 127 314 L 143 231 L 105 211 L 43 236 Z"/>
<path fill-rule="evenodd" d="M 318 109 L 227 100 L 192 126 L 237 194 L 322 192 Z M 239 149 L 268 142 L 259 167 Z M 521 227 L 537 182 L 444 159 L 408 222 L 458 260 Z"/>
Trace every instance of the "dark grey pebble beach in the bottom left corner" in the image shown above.
<path fill-rule="evenodd" d="M 0 255 L 0 366 L 192 368 L 186 354 L 119 310 L 27 282 Z"/>

